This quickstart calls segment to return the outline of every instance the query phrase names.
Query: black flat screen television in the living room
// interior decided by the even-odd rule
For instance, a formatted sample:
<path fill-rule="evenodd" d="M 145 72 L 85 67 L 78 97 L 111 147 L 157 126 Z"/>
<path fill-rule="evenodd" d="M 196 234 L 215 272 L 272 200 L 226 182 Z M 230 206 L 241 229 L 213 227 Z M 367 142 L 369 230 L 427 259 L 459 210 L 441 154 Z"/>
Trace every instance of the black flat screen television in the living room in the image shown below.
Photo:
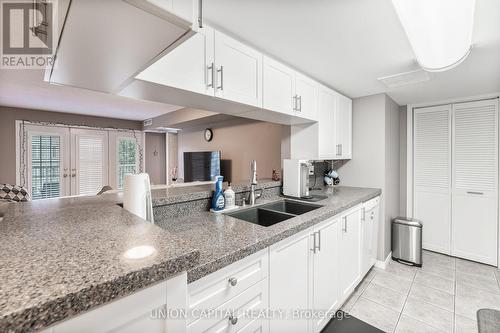
<path fill-rule="evenodd" d="M 184 152 L 184 182 L 211 181 L 220 175 L 220 151 Z"/>

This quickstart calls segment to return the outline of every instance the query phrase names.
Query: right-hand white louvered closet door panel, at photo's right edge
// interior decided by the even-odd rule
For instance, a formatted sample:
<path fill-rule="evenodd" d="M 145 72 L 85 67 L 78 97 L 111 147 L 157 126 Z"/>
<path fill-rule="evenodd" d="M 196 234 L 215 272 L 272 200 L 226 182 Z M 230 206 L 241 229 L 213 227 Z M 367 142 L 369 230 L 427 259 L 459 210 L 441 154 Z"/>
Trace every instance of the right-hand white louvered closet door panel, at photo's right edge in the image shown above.
<path fill-rule="evenodd" d="M 452 254 L 497 264 L 498 99 L 453 105 Z"/>

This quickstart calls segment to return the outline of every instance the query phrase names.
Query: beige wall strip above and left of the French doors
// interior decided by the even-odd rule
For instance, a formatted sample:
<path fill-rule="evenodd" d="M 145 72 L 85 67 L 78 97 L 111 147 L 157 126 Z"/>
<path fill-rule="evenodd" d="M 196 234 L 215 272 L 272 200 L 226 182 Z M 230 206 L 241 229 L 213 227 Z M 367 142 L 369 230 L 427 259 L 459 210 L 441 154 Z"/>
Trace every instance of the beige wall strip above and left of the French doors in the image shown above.
<path fill-rule="evenodd" d="M 0 106 L 0 183 L 16 182 L 16 120 L 140 130 L 142 122 Z"/>

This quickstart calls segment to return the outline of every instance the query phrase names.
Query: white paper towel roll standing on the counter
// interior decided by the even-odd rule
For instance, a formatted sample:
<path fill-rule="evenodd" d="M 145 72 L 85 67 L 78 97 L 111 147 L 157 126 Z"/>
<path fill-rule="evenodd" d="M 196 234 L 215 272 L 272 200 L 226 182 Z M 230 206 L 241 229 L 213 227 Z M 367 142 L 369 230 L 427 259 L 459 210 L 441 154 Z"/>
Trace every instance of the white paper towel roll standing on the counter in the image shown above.
<path fill-rule="evenodd" d="M 123 186 L 123 208 L 154 223 L 151 200 L 151 184 L 147 173 L 125 175 Z"/>

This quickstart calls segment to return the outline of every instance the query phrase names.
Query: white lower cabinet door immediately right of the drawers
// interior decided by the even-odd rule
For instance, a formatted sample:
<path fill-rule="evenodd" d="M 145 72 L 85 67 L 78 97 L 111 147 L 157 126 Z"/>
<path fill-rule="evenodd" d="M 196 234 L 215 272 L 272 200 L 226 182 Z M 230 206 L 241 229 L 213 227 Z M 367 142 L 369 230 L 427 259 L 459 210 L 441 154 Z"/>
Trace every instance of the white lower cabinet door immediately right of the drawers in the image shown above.
<path fill-rule="evenodd" d="M 269 308 L 283 309 L 291 316 L 296 309 L 310 309 L 312 285 L 312 244 L 314 233 L 307 229 L 271 245 L 269 254 Z M 307 318 L 270 320 L 271 332 L 304 333 Z"/>

